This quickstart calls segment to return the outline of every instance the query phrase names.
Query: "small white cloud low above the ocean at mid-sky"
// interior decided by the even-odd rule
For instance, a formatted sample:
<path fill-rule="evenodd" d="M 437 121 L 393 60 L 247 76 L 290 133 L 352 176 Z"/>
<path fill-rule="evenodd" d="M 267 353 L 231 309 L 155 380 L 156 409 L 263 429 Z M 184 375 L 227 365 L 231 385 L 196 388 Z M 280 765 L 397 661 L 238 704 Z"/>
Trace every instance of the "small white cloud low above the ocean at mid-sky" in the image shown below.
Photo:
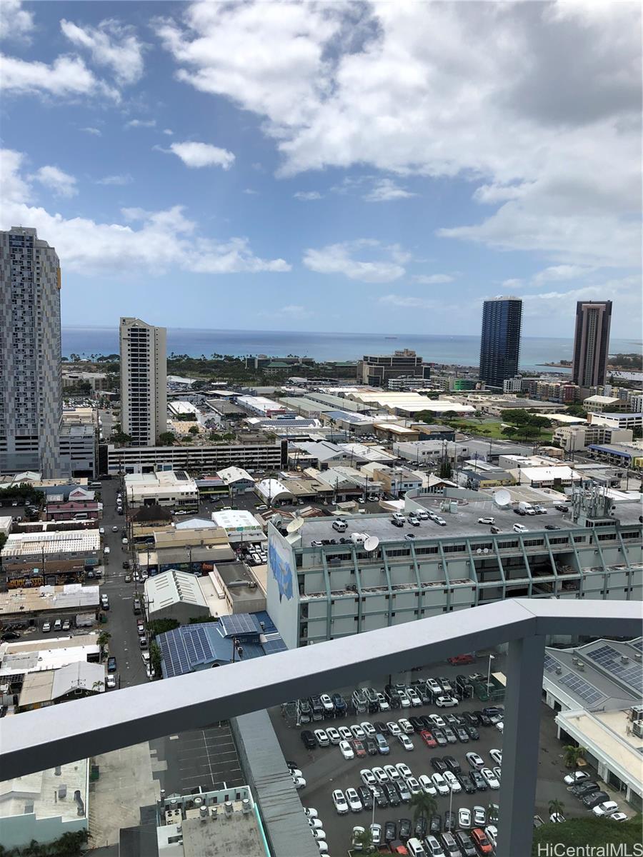
<path fill-rule="evenodd" d="M 356 259 L 355 255 L 368 250 L 379 259 Z M 403 263 L 408 261 L 399 245 L 386 246 L 378 241 L 360 239 L 339 244 L 328 244 L 321 249 L 307 249 L 303 253 L 303 264 L 315 273 L 342 274 L 348 279 L 362 283 L 391 283 L 406 273 Z"/>

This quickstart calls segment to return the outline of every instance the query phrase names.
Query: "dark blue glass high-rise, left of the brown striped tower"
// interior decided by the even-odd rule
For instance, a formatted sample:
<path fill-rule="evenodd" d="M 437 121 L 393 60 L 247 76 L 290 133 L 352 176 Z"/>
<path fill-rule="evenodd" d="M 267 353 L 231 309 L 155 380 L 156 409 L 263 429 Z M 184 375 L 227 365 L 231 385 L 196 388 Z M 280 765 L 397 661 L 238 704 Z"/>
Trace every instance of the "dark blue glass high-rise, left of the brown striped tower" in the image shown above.
<path fill-rule="evenodd" d="M 484 302 L 480 340 L 480 378 L 490 387 L 501 387 L 518 372 L 522 301 L 519 297 L 494 297 Z"/>

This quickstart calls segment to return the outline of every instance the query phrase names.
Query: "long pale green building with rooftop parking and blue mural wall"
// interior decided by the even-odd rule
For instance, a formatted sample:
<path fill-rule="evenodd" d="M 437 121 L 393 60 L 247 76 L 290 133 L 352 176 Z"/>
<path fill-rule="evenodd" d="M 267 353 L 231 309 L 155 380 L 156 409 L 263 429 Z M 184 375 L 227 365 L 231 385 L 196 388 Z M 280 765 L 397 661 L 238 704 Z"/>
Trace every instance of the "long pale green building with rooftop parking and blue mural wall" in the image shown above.
<path fill-rule="evenodd" d="M 530 489 L 531 490 L 531 489 Z M 516 518 L 484 494 L 409 492 L 406 512 L 438 512 L 445 526 L 396 527 L 388 515 L 308 518 L 282 536 L 268 526 L 267 609 L 288 646 L 346 637 L 510 597 L 640 600 L 640 505 L 612 515 L 610 498 L 579 493 L 575 518 L 554 509 Z M 476 500 L 478 498 L 478 500 Z M 466 500 L 466 503 L 463 502 Z M 491 515 L 490 533 L 478 518 Z M 514 532 L 517 520 L 528 531 Z M 546 530 L 545 524 L 558 527 Z M 412 530 L 412 539 L 406 538 Z M 364 536 L 371 536 L 365 542 Z"/>

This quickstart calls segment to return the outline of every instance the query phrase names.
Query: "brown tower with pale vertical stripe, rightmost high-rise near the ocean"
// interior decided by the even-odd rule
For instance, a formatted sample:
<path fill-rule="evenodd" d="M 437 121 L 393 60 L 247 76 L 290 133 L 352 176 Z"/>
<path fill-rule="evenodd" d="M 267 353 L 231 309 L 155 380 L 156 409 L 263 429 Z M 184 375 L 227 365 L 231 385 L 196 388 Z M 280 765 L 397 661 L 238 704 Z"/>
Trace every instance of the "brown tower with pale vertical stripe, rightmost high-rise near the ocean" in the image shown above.
<path fill-rule="evenodd" d="M 611 319 L 611 301 L 579 301 L 576 304 L 572 381 L 579 387 L 597 387 L 605 383 Z"/>

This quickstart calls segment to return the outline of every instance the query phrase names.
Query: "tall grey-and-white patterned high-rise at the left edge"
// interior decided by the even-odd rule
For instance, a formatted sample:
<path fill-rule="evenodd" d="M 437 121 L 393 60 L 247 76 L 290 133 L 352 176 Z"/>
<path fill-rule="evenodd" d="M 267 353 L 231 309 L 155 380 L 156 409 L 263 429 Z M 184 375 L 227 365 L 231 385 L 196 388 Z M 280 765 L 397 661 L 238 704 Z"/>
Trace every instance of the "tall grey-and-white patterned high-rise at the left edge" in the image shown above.
<path fill-rule="evenodd" d="M 35 229 L 0 231 L 0 473 L 60 470 L 60 263 Z"/>

